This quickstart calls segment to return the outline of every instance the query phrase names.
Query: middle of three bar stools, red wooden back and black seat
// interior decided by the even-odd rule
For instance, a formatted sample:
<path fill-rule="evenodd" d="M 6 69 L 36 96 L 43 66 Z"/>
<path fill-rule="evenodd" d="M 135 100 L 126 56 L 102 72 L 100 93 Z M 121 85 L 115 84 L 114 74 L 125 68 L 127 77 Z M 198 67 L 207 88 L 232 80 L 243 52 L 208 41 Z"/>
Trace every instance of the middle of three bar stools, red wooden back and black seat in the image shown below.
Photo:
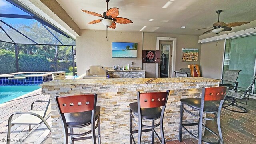
<path fill-rule="evenodd" d="M 164 110 L 167 104 L 169 90 L 166 92 L 150 92 L 140 93 L 137 92 L 138 102 L 130 103 L 130 144 L 132 141 L 135 144 L 135 140 L 132 134 L 138 133 L 138 144 L 141 143 L 142 132 L 152 132 L 152 144 L 154 144 L 154 134 L 160 140 L 161 144 L 165 144 L 163 120 Z M 162 109 L 160 108 L 162 106 Z M 137 117 L 138 121 L 134 118 Z M 158 124 L 155 124 L 155 120 L 158 120 Z M 138 124 L 138 130 L 132 130 L 132 120 Z M 152 121 L 152 125 L 142 124 L 142 120 Z M 161 139 L 154 130 L 157 126 L 160 126 Z M 148 128 L 143 129 L 142 128 Z"/>

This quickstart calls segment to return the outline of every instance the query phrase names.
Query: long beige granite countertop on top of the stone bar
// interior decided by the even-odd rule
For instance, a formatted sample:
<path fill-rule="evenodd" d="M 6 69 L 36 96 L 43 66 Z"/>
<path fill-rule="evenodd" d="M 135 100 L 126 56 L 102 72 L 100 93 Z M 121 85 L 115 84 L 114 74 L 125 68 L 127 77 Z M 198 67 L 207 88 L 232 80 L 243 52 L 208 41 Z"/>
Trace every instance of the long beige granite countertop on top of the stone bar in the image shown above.
<path fill-rule="evenodd" d="M 67 85 L 109 85 L 109 84 L 160 84 L 160 83 L 184 83 L 184 82 L 220 82 L 220 80 L 204 77 L 188 78 L 92 78 L 80 80 L 52 80 L 39 86 L 67 86 Z"/>

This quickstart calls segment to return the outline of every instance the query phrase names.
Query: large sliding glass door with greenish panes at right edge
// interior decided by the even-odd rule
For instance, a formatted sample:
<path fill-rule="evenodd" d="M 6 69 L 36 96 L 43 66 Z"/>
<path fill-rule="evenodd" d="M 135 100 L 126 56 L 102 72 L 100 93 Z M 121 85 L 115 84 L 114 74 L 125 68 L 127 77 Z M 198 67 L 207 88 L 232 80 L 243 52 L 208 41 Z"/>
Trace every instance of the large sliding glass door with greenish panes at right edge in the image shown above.
<path fill-rule="evenodd" d="M 242 70 L 239 87 L 248 87 L 255 75 L 256 35 L 226 40 L 223 74 L 226 70 Z M 254 88 L 256 94 L 256 88 Z"/>

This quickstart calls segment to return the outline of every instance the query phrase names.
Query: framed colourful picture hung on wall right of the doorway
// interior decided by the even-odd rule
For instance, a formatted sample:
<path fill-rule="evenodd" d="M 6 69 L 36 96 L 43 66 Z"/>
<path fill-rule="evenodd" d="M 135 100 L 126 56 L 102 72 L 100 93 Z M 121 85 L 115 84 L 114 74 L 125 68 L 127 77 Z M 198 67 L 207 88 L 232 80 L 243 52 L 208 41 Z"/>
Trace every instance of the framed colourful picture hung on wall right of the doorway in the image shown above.
<path fill-rule="evenodd" d="M 198 61 L 198 48 L 182 48 L 182 62 Z"/>

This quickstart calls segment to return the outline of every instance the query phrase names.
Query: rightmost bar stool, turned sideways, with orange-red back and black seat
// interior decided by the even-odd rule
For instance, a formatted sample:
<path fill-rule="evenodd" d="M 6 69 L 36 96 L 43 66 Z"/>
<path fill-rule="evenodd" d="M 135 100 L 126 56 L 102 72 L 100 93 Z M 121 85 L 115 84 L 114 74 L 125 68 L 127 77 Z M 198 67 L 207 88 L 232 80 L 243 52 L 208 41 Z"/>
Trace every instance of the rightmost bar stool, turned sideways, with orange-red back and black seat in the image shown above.
<path fill-rule="evenodd" d="M 223 144 L 223 138 L 222 138 L 222 132 L 220 128 L 220 112 L 222 108 L 222 104 L 225 100 L 226 93 L 228 91 L 228 87 L 211 87 L 211 88 L 202 88 L 202 97 L 201 98 L 185 98 L 181 99 L 181 106 L 180 106 L 180 132 L 179 132 L 179 141 L 182 141 L 182 128 L 186 130 L 191 136 L 193 136 L 196 140 L 198 140 L 198 144 L 201 144 L 202 142 L 206 142 L 207 144 Z M 211 101 L 218 101 L 218 106 L 216 103 Z M 192 108 L 192 110 L 198 111 L 199 115 L 194 114 L 184 108 L 184 104 L 186 104 L 189 108 Z M 199 122 L 195 123 L 188 123 L 183 124 L 183 110 L 191 114 L 192 116 L 195 116 L 199 118 Z M 210 113 L 213 114 L 213 117 L 203 117 L 204 113 Z M 203 120 L 216 120 L 217 119 L 217 125 L 218 125 L 218 133 L 219 136 L 204 126 Z M 192 134 L 186 126 L 196 126 L 198 125 L 198 134 L 195 136 Z M 202 140 L 202 127 L 204 127 L 206 130 L 211 132 L 214 136 L 218 138 L 218 141 L 216 142 L 208 142 L 206 140 Z"/>

